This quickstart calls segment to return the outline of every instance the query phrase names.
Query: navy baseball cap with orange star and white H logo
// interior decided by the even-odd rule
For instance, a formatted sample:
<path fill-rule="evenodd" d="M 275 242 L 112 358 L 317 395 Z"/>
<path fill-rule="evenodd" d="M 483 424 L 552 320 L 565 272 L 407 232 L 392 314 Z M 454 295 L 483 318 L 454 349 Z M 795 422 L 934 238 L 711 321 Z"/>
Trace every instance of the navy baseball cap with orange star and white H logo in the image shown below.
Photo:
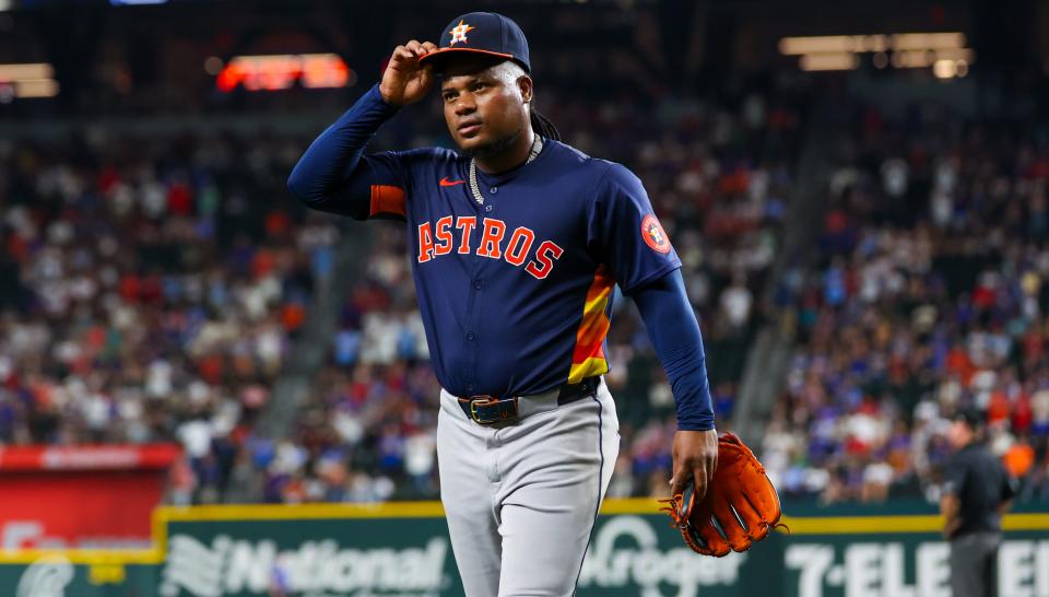
<path fill-rule="evenodd" d="M 526 72 L 532 71 L 524 32 L 510 19 L 494 12 L 468 12 L 456 16 L 440 33 L 437 47 L 437 51 L 420 58 L 419 62 L 437 65 L 448 57 L 470 52 L 514 60 Z"/>

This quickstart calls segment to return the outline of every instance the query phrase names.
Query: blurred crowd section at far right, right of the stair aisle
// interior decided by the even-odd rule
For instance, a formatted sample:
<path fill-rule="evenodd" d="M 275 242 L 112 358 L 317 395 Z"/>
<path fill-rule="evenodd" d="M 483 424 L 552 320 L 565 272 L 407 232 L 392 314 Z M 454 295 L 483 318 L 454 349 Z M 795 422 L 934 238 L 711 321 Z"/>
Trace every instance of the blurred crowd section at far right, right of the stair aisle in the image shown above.
<path fill-rule="evenodd" d="M 1038 127 L 857 108 L 764 440 L 786 494 L 939 497 L 955 409 L 1049 500 L 1049 145 Z"/>

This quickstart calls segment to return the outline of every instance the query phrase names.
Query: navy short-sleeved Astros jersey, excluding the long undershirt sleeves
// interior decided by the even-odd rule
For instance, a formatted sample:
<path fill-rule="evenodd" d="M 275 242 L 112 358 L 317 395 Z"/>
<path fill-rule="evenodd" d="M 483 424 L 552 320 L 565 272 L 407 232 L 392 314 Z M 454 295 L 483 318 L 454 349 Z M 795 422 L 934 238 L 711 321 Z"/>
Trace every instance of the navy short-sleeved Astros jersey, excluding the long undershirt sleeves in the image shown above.
<path fill-rule="evenodd" d="M 484 204 L 455 152 L 366 160 L 369 214 L 408 223 L 434 370 L 452 394 L 529 395 L 606 373 L 612 286 L 681 267 L 640 180 L 563 143 L 479 172 Z"/>

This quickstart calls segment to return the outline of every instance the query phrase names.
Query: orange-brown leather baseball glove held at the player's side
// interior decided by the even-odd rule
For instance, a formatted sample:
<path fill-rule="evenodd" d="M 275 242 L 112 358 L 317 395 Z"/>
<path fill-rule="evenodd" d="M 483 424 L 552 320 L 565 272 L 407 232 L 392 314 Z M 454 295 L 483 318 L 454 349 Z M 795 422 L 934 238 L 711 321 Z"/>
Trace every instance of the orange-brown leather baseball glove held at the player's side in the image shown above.
<path fill-rule="evenodd" d="M 746 551 L 779 524 L 779 495 L 765 475 L 765 467 L 739 437 L 718 438 L 718 468 L 707 484 L 707 494 L 694 491 L 660 500 L 674 526 L 696 553 L 721 558 Z"/>

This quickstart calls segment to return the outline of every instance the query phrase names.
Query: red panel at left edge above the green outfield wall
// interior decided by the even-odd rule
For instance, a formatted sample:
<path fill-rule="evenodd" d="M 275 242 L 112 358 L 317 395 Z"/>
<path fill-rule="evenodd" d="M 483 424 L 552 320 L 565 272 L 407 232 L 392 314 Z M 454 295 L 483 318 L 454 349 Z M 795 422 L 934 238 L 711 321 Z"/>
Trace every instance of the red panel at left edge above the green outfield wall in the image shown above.
<path fill-rule="evenodd" d="M 0 549 L 141 548 L 175 444 L 0 448 Z"/>

